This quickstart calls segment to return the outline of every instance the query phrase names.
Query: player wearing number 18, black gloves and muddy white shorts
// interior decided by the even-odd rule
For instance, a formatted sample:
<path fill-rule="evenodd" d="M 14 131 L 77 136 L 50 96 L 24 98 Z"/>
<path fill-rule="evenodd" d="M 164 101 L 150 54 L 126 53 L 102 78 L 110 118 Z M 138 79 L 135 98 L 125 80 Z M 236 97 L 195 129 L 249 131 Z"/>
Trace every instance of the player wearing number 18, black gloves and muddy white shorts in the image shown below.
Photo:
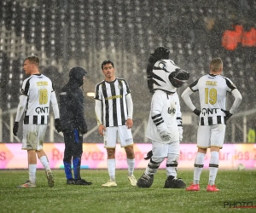
<path fill-rule="evenodd" d="M 23 69 L 30 75 L 22 83 L 20 103 L 17 108 L 13 134 L 17 136 L 20 118 L 24 112 L 23 139 L 21 149 L 27 150 L 29 180 L 18 187 L 36 187 L 37 156 L 44 165 L 49 187 L 55 186 L 55 179 L 44 153 L 44 136 L 49 122 L 49 104 L 55 115 L 55 129 L 61 131 L 58 102 L 53 84 L 39 72 L 39 59 L 29 56 L 24 60 Z"/>

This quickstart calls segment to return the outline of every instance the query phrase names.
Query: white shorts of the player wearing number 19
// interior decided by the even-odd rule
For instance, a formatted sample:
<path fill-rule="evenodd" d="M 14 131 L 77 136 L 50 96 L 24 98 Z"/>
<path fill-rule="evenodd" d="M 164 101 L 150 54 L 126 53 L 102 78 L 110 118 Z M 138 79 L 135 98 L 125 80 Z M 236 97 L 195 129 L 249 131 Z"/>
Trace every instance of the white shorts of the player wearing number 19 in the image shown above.
<path fill-rule="evenodd" d="M 199 126 L 197 130 L 197 147 L 222 148 L 224 144 L 225 130 L 225 124 Z"/>

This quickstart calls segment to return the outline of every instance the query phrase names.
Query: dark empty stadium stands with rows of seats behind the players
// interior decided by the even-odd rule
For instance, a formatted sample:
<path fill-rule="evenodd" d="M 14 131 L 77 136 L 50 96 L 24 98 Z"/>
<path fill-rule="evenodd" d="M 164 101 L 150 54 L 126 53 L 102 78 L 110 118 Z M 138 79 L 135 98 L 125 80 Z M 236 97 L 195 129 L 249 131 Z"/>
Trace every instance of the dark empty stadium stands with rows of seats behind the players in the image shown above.
<path fill-rule="evenodd" d="M 102 60 L 113 60 L 116 76 L 126 78 L 131 87 L 134 141 L 148 142 L 144 127 L 151 95 L 146 67 L 150 53 L 165 46 L 170 58 L 190 72 L 189 82 L 178 94 L 208 72 L 213 57 L 224 60 L 224 76 L 236 83 L 243 96 L 239 113 L 227 126 L 225 141 L 246 142 L 248 127 L 255 125 L 256 43 L 248 46 L 239 40 L 236 48 L 229 50 L 223 46 L 223 36 L 227 30 L 235 31 L 234 26 L 242 26 L 241 34 L 250 32 L 256 28 L 255 20 L 254 0 L 2 0 L 0 141 L 19 142 L 22 137 L 21 125 L 18 138 L 11 133 L 20 86 L 26 78 L 22 64 L 26 56 L 38 55 L 41 71 L 53 80 L 57 94 L 67 82 L 70 68 L 82 66 L 89 72 L 84 83 L 84 113 L 90 131 L 84 142 L 102 142 L 96 130 L 93 97 L 86 95 L 103 79 Z M 229 98 L 228 108 L 231 102 Z M 182 100 L 181 105 L 183 143 L 195 143 L 197 118 Z M 46 141 L 63 139 L 49 126 Z"/>

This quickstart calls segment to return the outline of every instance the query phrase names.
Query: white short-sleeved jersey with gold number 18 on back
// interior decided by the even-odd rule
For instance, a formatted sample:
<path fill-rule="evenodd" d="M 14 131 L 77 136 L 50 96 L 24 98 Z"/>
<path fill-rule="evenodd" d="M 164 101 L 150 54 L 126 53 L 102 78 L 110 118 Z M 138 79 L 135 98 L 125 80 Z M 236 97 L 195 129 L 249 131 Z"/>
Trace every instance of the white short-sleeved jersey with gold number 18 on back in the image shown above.
<path fill-rule="evenodd" d="M 24 124 L 48 124 L 51 92 L 54 92 L 52 82 L 43 74 L 23 81 L 20 95 L 27 96 Z"/>

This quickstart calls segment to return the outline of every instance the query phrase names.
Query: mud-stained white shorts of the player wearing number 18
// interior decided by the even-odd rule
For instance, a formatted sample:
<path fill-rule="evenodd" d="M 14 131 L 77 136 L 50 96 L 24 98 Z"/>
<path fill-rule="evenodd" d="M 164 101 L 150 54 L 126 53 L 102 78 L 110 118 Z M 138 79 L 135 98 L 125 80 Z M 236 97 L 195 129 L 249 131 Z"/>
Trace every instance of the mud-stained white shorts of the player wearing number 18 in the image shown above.
<path fill-rule="evenodd" d="M 23 124 L 21 149 L 42 150 L 47 125 Z"/>

